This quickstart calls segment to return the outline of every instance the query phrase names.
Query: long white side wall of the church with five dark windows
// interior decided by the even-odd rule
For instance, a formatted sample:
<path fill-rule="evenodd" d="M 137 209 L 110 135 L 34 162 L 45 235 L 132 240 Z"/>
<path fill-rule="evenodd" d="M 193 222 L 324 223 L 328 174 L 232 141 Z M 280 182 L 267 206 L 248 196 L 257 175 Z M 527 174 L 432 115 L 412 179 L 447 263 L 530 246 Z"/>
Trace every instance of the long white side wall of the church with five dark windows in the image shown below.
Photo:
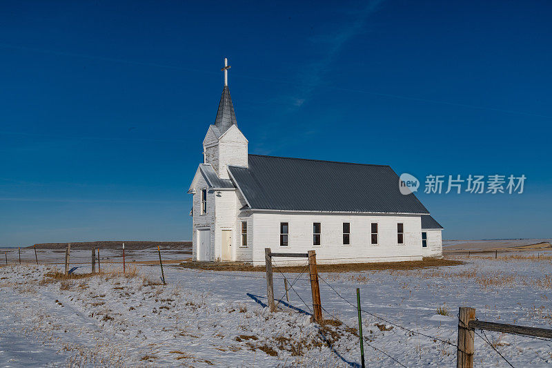
<path fill-rule="evenodd" d="M 306 253 L 316 251 L 318 263 L 393 262 L 422 259 L 419 215 L 341 215 L 311 213 L 254 213 L 253 265 L 264 265 L 264 248 Z M 289 224 L 289 246 L 279 245 L 280 222 Z M 313 222 L 322 224 L 321 245 L 313 245 Z M 343 245 L 343 222 L 351 223 L 351 244 Z M 378 224 L 378 245 L 371 244 L 371 223 Z M 397 223 L 404 224 L 404 244 L 397 244 Z M 279 264 L 305 260 L 281 258 Z"/>

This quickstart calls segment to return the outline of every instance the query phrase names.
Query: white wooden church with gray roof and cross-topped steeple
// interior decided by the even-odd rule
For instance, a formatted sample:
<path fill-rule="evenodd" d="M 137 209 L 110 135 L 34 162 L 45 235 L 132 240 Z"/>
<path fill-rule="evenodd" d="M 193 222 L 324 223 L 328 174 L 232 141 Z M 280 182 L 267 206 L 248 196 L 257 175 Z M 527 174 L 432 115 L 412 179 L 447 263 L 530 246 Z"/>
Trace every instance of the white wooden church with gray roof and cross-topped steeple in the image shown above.
<path fill-rule="evenodd" d="M 264 266 L 264 249 L 317 263 L 442 256 L 442 226 L 390 166 L 248 153 L 224 59 L 224 88 L 203 141 L 193 194 L 193 260 Z M 279 264 L 304 262 L 283 258 Z"/>

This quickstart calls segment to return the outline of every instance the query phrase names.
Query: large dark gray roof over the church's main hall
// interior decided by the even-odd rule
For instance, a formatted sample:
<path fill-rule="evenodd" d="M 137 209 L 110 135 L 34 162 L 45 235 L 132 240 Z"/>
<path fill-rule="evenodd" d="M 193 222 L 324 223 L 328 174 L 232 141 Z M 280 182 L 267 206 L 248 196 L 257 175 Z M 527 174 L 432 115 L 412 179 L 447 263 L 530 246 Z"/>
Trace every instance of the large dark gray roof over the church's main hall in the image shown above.
<path fill-rule="evenodd" d="M 413 193 L 400 193 L 389 166 L 248 155 L 248 168 L 228 170 L 251 209 L 428 213 Z"/>

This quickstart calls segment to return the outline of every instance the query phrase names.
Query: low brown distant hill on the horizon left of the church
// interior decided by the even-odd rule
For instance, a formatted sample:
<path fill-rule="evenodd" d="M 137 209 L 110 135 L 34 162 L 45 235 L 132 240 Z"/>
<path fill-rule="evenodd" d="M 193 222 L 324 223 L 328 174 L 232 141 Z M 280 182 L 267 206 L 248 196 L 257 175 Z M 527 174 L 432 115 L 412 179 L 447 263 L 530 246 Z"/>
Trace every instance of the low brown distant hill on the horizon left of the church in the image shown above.
<path fill-rule="evenodd" d="M 71 249 L 121 249 L 125 243 L 125 249 L 146 249 L 159 247 L 161 249 L 191 249 L 192 242 L 140 242 L 126 240 L 100 240 L 98 242 L 72 242 Z M 37 249 L 65 249 L 68 243 L 41 243 L 28 246 L 32 248 L 37 246 Z"/>

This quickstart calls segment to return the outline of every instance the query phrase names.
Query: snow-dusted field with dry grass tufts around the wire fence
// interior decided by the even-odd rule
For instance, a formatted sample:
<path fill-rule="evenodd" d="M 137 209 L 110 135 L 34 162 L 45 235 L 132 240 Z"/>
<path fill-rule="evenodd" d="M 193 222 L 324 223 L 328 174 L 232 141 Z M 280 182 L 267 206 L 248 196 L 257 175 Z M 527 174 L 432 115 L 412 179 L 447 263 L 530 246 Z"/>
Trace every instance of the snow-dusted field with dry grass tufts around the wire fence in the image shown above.
<path fill-rule="evenodd" d="M 552 257 L 472 257 L 466 264 L 408 271 L 321 273 L 355 304 L 361 290 L 366 362 L 370 367 L 453 367 L 456 348 L 397 325 L 456 343 L 457 307 L 476 309 L 480 320 L 552 328 Z M 88 269 L 87 269 L 88 267 Z M 1 367 L 357 367 L 357 311 L 320 281 L 325 318 L 310 322 L 308 274 L 299 276 L 290 303 L 277 313 L 266 304 L 259 272 L 217 272 L 137 265 L 137 274 L 108 272 L 78 280 L 47 274 L 59 265 L 0 267 Z M 133 267 L 129 267 L 131 270 Z M 90 272 L 83 264 L 78 273 Z M 275 271 L 275 296 L 284 295 Z M 297 273 L 288 273 L 293 280 Z M 442 308 L 444 314 L 437 314 Z M 330 316 L 331 313 L 333 316 Z M 378 325 L 379 324 L 379 325 Z M 350 328 L 353 327 L 353 328 Z M 481 334 L 481 332 L 479 332 Z M 552 342 L 486 332 L 514 367 L 552 365 Z M 391 360 L 384 355 L 395 358 Z M 475 365 L 506 362 L 479 336 Z"/>

